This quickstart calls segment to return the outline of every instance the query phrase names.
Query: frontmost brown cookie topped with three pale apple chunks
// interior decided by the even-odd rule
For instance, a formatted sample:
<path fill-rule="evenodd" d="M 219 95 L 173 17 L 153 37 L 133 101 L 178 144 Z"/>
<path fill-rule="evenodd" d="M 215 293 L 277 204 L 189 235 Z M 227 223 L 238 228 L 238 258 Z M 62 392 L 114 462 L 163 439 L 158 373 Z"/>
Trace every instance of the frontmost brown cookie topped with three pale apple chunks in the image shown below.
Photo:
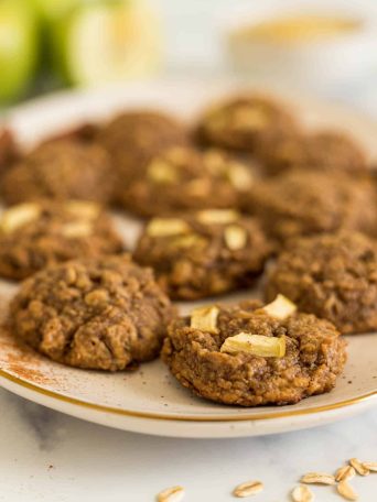
<path fill-rule="evenodd" d="M 288 307 L 249 301 L 195 309 L 170 325 L 162 358 L 182 385 L 217 403 L 294 404 L 328 392 L 345 341 L 330 321 Z"/>

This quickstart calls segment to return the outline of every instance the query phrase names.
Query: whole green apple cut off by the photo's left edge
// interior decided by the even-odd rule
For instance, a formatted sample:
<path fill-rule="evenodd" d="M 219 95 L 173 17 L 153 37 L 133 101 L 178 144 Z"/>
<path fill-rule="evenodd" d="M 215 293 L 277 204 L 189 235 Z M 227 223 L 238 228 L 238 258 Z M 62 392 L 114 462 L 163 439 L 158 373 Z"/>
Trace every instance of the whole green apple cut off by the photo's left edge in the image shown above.
<path fill-rule="evenodd" d="M 37 61 L 37 21 L 28 0 L 0 1 L 0 102 L 22 95 Z"/>

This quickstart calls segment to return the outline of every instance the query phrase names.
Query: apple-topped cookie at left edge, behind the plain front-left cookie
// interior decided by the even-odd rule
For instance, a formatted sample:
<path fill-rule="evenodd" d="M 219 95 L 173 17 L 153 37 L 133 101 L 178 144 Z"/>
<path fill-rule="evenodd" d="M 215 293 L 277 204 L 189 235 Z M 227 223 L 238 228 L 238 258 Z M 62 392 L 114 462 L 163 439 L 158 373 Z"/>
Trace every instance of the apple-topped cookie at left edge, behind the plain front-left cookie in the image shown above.
<path fill-rule="evenodd" d="M 119 253 L 121 238 L 95 203 L 23 203 L 0 216 L 0 276 L 22 280 L 75 258 Z"/>

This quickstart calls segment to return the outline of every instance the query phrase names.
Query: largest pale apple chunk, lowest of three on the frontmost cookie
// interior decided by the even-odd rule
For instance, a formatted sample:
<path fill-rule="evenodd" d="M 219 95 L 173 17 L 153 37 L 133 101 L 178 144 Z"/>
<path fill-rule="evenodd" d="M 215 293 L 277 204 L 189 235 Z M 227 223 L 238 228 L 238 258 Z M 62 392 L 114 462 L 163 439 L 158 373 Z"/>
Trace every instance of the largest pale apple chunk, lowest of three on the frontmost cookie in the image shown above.
<path fill-rule="evenodd" d="M 261 358 L 282 358 L 286 356 L 286 337 L 265 337 L 263 335 L 239 332 L 224 341 L 220 352 L 247 352 Z"/>

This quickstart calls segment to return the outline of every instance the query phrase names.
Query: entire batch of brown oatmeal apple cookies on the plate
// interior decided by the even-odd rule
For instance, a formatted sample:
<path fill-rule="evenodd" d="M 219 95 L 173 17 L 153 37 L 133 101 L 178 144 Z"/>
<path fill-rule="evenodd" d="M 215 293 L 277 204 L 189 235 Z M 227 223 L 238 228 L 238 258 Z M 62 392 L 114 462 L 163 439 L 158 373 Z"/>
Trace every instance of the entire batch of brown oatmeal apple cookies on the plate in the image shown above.
<path fill-rule="evenodd" d="M 278 100 L 229 97 L 194 124 L 125 111 L 28 153 L 4 131 L 0 192 L 0 275 L 23 281 L 11 329 L 60 363 L 118 371 L 161 353 L 202 397 L 291 404 L 333 389 L 343 335 L 377 329 L 367 156 Z M 142 219 L 131 252 L 111 208 Z M 173 305 L 257 285 L 265 304 Z"/>

